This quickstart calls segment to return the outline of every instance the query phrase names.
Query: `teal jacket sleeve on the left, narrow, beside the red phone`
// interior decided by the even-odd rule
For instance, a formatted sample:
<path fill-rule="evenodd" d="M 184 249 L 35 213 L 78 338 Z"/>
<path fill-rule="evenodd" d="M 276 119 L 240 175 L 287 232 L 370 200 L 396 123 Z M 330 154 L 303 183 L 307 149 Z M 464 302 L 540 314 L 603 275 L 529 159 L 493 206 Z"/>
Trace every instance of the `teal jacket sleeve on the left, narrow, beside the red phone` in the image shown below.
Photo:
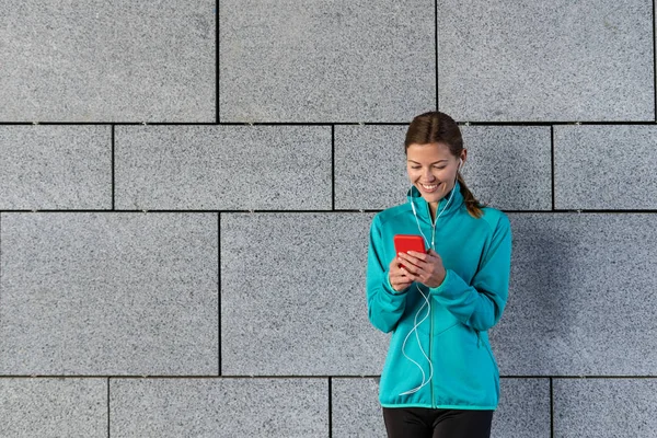
<path fill-rule="evenodd" d="M 396 292 L 390 285 L 388 265 L 382 258 L 382 240 L 379 216 L 374 216 L 370 226 L 367 254 L 367 312 L 372 325 L 384 333 L 396 326 L 404 313 L 408 288 Z"/>

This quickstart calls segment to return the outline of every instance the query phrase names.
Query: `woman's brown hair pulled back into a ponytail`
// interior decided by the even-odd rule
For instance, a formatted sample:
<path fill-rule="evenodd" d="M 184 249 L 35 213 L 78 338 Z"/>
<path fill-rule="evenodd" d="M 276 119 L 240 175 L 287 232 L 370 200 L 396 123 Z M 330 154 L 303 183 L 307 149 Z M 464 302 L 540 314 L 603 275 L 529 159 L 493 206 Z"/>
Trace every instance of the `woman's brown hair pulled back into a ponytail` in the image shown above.
<path fill-rule="evenodd" d="M 411 122 L 408 130 L 406 131 L 406 140 L 404 141 L 404 153 L 411 145 L 428 145 L 428 143 L 443 143 L 447 145 L 449 151 L 456 158 L 461 157 L 463 151 L 463 137 L 461 136 L 461 129 L 453 118 L 445 113 L 437 111 L 424 113 L 418 115 Z M 472 192 L 465 185 L 465 181 L 458 173 L 459 183 L 461 184 L 461 195 L 468 212 L 474 218 L 481 218 L 483 215 L 482 207 L 485 205 L 481 204 Z"/>

